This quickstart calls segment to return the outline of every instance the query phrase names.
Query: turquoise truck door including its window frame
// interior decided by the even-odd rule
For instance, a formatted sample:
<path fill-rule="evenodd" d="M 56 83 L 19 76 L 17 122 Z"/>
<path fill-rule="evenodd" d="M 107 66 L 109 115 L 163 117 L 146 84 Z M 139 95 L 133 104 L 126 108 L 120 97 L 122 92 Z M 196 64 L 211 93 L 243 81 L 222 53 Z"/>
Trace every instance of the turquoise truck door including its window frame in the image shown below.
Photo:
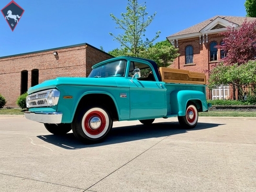
<path fill-rule="evenodd" d="M 133 69 L 140 69 L 141 77 L 129 79 L 130 119 L 149 119 L 166 115 L 166 89 L 162 82 L 155 80 L 155 72 L 149 63 L 132 61 L 129 76 Z"/>

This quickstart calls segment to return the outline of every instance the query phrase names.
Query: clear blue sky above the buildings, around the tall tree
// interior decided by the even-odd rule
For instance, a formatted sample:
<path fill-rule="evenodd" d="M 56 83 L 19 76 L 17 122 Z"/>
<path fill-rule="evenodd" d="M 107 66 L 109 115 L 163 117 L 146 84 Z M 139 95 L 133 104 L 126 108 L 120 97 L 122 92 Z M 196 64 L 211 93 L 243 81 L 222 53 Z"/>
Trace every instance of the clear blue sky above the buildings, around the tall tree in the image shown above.
<path fill-rule="evenodd" d="M 11 0 L 1 0 L 3 9 Z M 109 32 L 118 35 L 123 31 L 115 29 L 110 17 L 113 13 L 120 18 L 126 13 L 127 0 L 15 0 L 25 12 L 12 31 L 5 17 L 0 13 L 0 57 L 20 53 L 53 49 L 74 44 L 88 43 L 108 52 L 120 48 Z M 146 2 L 147 12 L 157 12 L 148 26 L 146 36 L 152 39 L 161 31 L 155 41 L 166 37 L 216 15 L 245 16 L 245 0 L 138 0 Z"/>

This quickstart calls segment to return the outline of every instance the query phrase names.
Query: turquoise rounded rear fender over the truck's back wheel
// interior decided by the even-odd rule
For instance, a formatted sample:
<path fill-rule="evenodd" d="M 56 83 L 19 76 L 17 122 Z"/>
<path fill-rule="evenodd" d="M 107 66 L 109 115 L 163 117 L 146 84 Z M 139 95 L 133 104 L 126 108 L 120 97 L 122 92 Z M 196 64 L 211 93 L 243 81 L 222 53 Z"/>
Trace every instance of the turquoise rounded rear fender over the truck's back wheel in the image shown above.
<path fill-rule="evenodd" d="M 193 101 L 195 104 L 200 101 L 202 106 L 196 105 L 197 109 L 202 107 L 202 111 L 208 110 L 206 96 L 203 92 L 192 90 L 173 91 L 170 98 L 172 114 L 177 114 L 177 116 L 185 116 L 186 106 L 189 101 Z"/>

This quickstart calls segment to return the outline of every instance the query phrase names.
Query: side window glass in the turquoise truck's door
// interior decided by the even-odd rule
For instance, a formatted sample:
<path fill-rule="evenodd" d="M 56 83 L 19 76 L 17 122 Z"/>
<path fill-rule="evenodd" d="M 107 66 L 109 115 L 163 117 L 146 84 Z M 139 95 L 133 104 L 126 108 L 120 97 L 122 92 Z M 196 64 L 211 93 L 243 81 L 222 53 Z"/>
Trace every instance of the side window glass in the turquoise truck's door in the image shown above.
<path fill-rule="evenodd" d="M 134 69 L 140 69 L 141 77 L 138 79 L 140 81 L 155 81 L 152 69 L 149 65 L 139 62 L 130 62 L 129 76 L 133 75 Z"/>

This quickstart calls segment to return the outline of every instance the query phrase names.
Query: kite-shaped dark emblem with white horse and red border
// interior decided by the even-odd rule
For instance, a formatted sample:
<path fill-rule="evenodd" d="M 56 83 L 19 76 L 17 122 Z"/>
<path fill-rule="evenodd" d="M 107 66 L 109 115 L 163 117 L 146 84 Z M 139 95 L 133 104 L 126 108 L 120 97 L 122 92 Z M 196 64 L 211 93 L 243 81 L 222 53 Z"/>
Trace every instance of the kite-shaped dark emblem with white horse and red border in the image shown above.
<path fill-rule="evenodd" d="M 5 17 L 5 20 L 10 26 L 12 31 L 15 29 L 18 21 L 24 13 L 24 9 L 21 8 L 17 3 L 11 1 L 8 5 L 6 5 L 2 10 L 2 14 Z"/>

